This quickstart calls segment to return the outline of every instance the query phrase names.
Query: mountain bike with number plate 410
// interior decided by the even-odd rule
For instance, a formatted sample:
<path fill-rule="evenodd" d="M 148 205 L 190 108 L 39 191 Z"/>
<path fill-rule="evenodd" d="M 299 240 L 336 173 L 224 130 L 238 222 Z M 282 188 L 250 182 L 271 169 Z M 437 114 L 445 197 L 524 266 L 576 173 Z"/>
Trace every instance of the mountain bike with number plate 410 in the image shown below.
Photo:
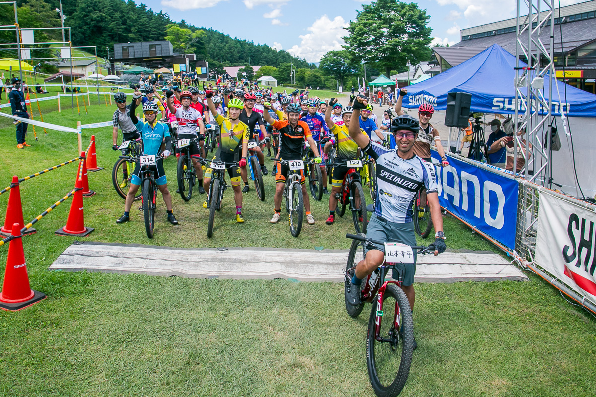
<path fill-rule="evenodd" d="M 288 165 L 290 172 L 285 177 L 284 198 L 285 211 L 288 212 L 288 220 L 290 221 L 290 233 L 294 237 L 300 235 L 302 230 L 302 221 L 304 218 L 304 196 L 302 193 L 302 174 L 300 170 L 304 169 L 304 161 L 302 160 L 275 160 L 281 164 Z"/>

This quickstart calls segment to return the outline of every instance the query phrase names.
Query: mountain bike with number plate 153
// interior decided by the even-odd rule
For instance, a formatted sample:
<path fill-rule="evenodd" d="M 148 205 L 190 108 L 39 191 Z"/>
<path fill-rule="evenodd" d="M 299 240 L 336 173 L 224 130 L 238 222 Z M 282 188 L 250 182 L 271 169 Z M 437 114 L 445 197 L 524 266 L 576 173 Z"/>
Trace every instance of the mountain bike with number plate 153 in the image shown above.
<path fill-rule="evenodd" d="M 367 230 L 367 203 L 364 197 L 364 190 L 360 180 L 360 171 L 362 164 L 370 164 L 372 160 L 343 160 L 336 158 L 331 167 L 343 165 L 348 167 L 346 176 L 343 179 L 342 191 L 336 193 L 337 207 L 336 213 L 343 217 L 346 213 L 346 208 L 350 208 L 352 212 L 352 221 L 356 233 L 366 233 Z M 331 174 L 330 174 L 331 175 Z"/>

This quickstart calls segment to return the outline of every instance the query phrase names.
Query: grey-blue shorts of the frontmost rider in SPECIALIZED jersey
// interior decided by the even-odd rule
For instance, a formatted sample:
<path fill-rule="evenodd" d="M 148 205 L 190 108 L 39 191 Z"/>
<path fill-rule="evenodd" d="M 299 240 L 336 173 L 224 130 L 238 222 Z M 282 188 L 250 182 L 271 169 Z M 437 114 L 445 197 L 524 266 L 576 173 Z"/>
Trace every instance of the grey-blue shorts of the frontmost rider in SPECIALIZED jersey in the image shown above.
<path fill-rule="evenodd" d="M 416 245 L 416 236 L 414 235 L 414 223 L 395 223 L 385 220 L 377 215 L 371 215 L 367 225 L 367 237 L 372 240 L 398 242 L 407 245 Z M 364 252 L 371 249 L 379 249 L 385 252 L 385 247 L 379 244 L 364 246 Z M 414 263 L 396 264 L 393 270 L 393 279 L 399 280 L 399 273 L 403 275 L 403 285 L 410 286 L 414 283 L 416 274 L 416 253 L 414 253 Z"/>

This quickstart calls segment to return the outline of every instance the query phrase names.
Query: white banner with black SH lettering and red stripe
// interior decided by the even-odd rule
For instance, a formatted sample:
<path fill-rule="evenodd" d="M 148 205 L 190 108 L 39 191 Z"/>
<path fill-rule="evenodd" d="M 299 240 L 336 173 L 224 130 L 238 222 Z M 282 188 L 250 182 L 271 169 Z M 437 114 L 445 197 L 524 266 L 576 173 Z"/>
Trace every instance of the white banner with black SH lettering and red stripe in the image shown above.
<path fill-rule="evenodd" d="M 596 214 L 542 190 L 536 263 L 596 304 Z"/>

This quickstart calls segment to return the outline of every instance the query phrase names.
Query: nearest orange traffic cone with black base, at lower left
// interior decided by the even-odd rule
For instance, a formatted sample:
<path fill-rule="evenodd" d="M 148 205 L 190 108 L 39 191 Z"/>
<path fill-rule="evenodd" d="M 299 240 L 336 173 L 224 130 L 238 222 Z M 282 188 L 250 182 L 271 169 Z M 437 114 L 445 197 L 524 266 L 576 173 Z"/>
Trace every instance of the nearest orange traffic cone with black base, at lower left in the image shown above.
<path fill-rule="evenodd" d="M 20 224 L 13 224 L 12 235 L 16 238 L 10 240 L 8 247 L 4 285 L 0 292 L 0 308 L 14 311 L 45 299 L 45 293 L 34 291 L 29 286 Z"/>

